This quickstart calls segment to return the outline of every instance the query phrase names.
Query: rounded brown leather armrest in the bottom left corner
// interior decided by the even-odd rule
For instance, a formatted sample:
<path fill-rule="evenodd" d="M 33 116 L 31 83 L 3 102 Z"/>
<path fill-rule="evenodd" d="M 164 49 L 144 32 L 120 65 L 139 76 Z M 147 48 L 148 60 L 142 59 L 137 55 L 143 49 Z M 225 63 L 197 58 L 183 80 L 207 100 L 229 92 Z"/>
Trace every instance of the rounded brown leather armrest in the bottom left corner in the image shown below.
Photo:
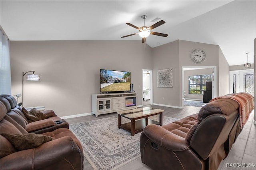
<path fill-rule="evenodd" d="M 37 148 L 21 150 L 1 158 L 1 169 L 36 170 L 62 160 L 78 148 L 69 136 L 46 142 Z"/>

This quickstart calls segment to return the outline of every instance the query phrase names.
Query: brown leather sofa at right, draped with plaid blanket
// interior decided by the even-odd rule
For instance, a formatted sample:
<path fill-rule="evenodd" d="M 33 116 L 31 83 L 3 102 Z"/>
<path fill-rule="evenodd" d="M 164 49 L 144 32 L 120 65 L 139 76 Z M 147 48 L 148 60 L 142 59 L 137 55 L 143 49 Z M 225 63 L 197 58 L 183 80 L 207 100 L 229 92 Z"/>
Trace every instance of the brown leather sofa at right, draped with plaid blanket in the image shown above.
<path fill-rule="evenodd" d="M 141 160 L 154 170 L 217 170 L 240 132 L 238 102 L 219 98 L 198 114 L 146 126 L 140 136 Z"/>

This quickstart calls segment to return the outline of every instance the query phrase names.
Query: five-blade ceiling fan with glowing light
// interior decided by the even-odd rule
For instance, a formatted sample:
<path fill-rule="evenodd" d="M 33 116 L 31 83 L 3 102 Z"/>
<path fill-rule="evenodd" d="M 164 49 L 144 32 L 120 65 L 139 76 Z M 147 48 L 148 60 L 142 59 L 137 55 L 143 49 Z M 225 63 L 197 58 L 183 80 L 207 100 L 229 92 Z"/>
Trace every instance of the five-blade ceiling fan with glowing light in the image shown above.
<path fill-rule="evenodd" d="M 144 43 L 144 42 L 146 42 L 146 37 L 148 37 L 149 34 L 153 34 L 153 35 L 156 35 L 156 36 L 164 36 L 164 37 L 168 36 L 168 34 L 163 34 L 163 33 L 152 32 L 151 31 L 154 28 L 164 24 L 165 23 L 164 20 L 160 20 L 159 22 L 156 22 L 156 24 L 153 24 L 152 26 L 147 27 L 147 26 L 145 26 L 145 19 L 147 18 L 147 16 L 142 15 L 141 18 L 144 20 L 144 26 L 141 26 L 140 28 L 131 24 L 131 23 L 126 23 L 127 25 L 132 26 L 133 28 L 136 28 L 137 30 L 139 30 L 139 32 L 134 33 L 134 34 L 130 34 L 130 35 L 127 35 L 127 36 L 122 36 L 121 38 L 139 34 L 139 36 L 142 38 L 142 43 Z"/>

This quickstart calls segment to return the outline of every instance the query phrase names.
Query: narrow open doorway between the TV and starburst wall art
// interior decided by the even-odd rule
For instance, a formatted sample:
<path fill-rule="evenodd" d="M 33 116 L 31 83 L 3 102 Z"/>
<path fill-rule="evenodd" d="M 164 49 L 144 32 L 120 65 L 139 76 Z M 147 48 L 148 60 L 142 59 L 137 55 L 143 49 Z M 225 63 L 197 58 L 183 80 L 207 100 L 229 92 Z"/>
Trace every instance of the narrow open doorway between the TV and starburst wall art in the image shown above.
<path fill-rule="evenodd" d="M 152 70 L 142 69 L 142 105 L 153 104 Z"/>

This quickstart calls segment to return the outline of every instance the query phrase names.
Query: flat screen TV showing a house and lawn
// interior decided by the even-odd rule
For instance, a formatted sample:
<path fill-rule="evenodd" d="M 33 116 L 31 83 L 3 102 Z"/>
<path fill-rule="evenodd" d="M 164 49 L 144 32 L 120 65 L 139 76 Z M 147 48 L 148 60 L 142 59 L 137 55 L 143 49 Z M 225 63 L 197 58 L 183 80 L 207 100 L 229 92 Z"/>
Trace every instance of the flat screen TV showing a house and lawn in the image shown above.
<path fill-rule="evenodd" d="M 100 92 L 130 91 L 131 72 L 100 69 Z"/>

